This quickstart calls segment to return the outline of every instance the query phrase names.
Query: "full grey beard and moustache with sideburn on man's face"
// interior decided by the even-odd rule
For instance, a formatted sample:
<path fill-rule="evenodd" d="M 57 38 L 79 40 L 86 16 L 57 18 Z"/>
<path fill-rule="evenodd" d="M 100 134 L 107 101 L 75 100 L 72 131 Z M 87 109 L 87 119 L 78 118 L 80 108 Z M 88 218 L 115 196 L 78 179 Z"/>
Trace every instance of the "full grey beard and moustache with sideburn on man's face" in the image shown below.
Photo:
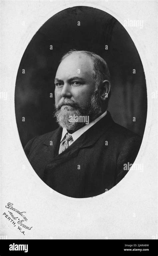
<path fill-rule="evenodd" d="M 93 92 L 90 104 L 84 108 L 68 98 L 65 98 L 60 104 L 55 105 L 55 108 L 54 116 L 58 124 L 62 128 L 66 128 L 70 133 L 77 131 L 86 124 L 85 122 L 70 122 L 70 116 L 88 116 L 89 122 L 91 122 L 102 113 L 98 90 Z"/>

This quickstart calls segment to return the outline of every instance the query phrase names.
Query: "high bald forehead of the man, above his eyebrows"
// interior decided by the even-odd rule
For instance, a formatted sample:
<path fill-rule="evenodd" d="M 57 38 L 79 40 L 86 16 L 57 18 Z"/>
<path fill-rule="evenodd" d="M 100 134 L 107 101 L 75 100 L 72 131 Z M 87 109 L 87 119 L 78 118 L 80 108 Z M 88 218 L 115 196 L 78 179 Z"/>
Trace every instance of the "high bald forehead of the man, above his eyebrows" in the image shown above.
<path fill-rule="evenodd" d="M 93 62 L 87 54 L 72 53 L 60 63 L 56 78 L 69 79 L 72 76 L 86 78 L 92 76 L 93 73 Z"/>

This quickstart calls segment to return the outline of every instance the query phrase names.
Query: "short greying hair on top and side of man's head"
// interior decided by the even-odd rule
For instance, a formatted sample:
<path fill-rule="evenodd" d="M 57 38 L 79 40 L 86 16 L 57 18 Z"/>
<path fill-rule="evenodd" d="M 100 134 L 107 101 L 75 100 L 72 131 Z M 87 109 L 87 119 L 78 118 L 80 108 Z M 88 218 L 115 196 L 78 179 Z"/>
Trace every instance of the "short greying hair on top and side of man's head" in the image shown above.
<path fill-rule="evenodd" d="M 96 83 L 96 88 L 95 90 L 98 90 L 98 86 L 104 81 L 104 80 L 108 80 L 110 83 L 110 92 L 108 94 L 108 98 L 106 103 L 108 103 L 110 95 L 111 95 L 111 82 L 110 82 L 110 72 L 109 72 L 109 68 L 108 65 L 106 63 L 106 61 L 101 58 L 99 55 L 95 54 L 94 52 L 89 52 L 89 51 L 77 51 L 75 49 L 72 49 L 70 51 L 68 51 L 67 53 L 65 53 L 63 55 L 63 57 L 60 60 L 60 63 L 69 55 L 71 55 L 72 53 L 83 53 L 88 55 L 92 62 L 93 62 L 93 67 L 94 67 L 94 74 L 93 74 L 93 79 Z"/>

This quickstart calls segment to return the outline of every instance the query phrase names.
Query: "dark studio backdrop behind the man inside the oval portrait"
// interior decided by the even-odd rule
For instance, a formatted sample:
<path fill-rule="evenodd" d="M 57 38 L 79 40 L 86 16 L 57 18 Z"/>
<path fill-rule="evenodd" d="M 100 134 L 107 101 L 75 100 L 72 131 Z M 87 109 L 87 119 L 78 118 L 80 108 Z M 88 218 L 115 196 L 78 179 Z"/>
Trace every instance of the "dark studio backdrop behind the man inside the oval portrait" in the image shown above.
<path fill-rule="evenodd" d="M 77 26 L 78 21 L 80 26 Z M 107 61 L 112 83 L 108 110 L 116 123 L 143 136 L 147 93 L 137 49 L 114 17 L 99 9 L 79 6 L 51 17 L 24 52 L 15 87 L 15 114 L 22 145 L 58 127 L 53 117 L 54 78 L 59 60 L 70 49 L 92 51 Z"/>

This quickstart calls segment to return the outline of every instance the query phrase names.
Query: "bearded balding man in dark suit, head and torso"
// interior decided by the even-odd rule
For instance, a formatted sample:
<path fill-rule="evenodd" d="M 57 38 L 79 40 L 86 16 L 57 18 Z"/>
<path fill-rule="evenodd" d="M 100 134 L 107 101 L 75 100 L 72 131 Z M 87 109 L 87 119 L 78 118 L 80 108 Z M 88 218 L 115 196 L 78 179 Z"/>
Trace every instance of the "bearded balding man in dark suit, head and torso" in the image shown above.
<path fill-rule="evenodd" d="M 141 138 L 113 121 L 109 98 L 109 69 L 100 56 L 76 50 L 63 56 L 55 77 L 60 127 L 31 139 L 24 149 L 35 172 L 55 191 L 97 196 L 115 186 L 134 162 Z"/>

